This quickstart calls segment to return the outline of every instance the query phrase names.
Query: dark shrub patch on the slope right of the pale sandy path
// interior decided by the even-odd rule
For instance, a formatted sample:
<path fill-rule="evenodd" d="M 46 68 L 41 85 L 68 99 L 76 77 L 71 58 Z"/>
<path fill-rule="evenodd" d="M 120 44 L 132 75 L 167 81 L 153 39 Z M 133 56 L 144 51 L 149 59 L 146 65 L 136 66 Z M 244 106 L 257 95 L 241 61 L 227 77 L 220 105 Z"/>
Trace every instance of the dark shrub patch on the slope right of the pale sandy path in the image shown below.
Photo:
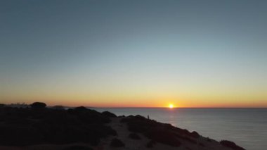
<path fill-rule="evenodd" d="M 127 123 L 131 132 L 140 132 L 146 137 L 152 139 L 153 142 L 161 142 L 171 146 L 180 146 L 179 139 L 195 143 L 195 138 L 200 137 L 197 132 L 189 132 L 188 130 L 179 129 L 169 124 L 158 123 L 155 120 L 149 120 L 141 115 L 129 115 L 122 118 L 122 123 Z M 152 146 L 148 144 L 148 147 Z"/>

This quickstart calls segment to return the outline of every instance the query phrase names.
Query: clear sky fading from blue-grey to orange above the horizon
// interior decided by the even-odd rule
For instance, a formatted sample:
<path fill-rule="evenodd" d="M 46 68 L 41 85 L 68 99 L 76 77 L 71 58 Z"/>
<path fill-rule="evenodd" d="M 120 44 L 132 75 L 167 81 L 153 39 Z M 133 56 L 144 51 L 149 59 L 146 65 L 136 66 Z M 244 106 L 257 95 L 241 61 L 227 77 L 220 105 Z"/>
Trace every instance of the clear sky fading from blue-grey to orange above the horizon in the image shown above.
<path fill-rule="evenodd" d="M 0 1 L 0 103 L 267 107 L 267 1 Z"/>

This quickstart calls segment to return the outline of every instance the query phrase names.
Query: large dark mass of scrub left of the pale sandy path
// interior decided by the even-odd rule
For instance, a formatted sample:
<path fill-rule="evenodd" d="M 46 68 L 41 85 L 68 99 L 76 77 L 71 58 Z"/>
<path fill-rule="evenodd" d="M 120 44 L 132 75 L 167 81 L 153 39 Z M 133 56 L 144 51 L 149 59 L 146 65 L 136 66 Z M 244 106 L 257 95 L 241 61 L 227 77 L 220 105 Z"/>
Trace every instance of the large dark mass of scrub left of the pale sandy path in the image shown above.
<path fill-rule="evenodd" d="M 0 107 L 0 145 L 70 144 L 97 145 L 100 138 L 117 135 L 105 125 L 110 118 L 85 107 L 46 108 L 34 103 L 32 108 Z"/>

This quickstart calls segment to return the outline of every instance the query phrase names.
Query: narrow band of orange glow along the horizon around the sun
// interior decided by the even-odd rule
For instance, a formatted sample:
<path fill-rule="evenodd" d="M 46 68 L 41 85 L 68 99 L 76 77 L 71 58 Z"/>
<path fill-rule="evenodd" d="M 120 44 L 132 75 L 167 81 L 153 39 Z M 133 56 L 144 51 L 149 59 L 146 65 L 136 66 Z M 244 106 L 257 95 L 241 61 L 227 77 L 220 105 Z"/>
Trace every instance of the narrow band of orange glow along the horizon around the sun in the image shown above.
<path fill-rule="evenodd" d="M 49 99 L 49 100 L 47 100 Z M 59 99 L 58 97 L 43 97 L 38 99 L 38 97 L 29 97 L 29 99 L 5 99 L 1 100 L 0 103 L 11 104 L 11 103 L 21 103 L 32 104 L 34 101 L 41 101 L 46 103 L 48 106 L 89 106 L 89 107 L 143 107 L 143 108 L 266 108 L 266 100 L 254 99 L 190 99 L 187 97 L 167 97 L 162 96 L 158 99 L 86 99 L 86 98 L 66 98 Z M 168 99 L 166 101 L 166 99 Z M 172 105 L 172 106 L 171 106 Z"/>

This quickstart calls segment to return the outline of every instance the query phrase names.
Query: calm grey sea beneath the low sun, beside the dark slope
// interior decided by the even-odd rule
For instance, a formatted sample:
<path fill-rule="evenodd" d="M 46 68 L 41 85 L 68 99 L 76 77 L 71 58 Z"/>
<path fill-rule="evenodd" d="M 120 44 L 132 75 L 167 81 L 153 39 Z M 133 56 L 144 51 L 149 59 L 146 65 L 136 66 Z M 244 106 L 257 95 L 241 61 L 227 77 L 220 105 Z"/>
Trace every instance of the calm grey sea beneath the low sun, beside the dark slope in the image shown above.
<path fill-rule="evenodd" d="M 204 137 L 228 139 L 247 150 L 267 149 L 267 108 L 95 108 L 116 115 L 143 115 L 197 131 Z"/>

